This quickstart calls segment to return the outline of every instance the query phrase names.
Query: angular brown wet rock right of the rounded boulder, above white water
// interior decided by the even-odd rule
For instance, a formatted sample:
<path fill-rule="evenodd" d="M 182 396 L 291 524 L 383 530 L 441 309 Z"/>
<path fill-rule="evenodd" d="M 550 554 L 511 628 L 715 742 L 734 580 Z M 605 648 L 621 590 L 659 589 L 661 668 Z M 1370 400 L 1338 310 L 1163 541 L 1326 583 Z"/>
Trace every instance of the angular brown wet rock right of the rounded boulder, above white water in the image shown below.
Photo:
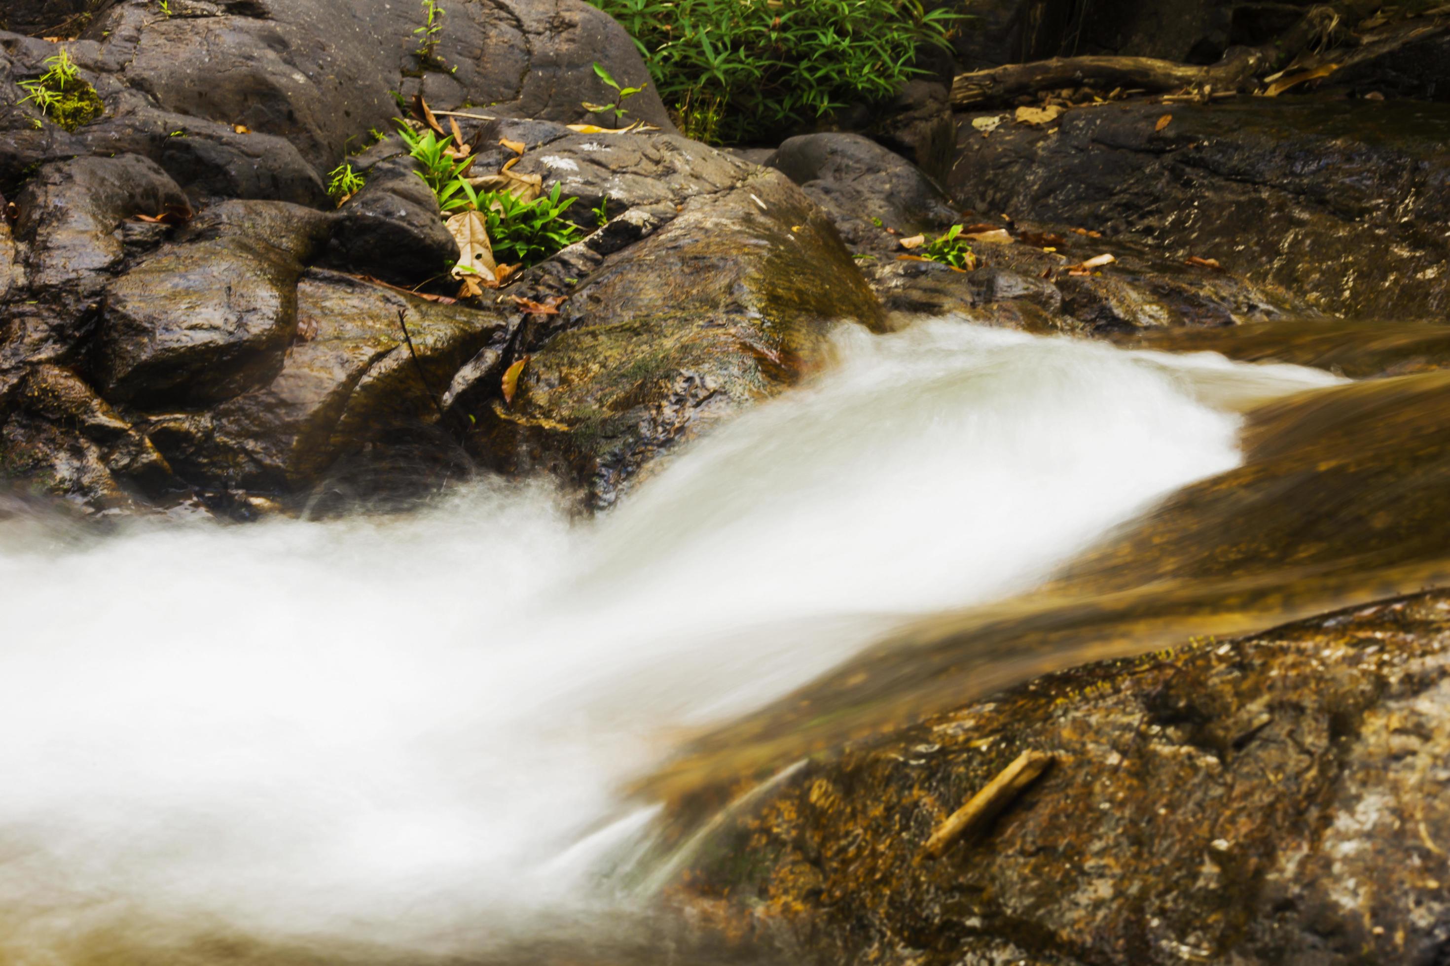
<path fill-rule="evenodd" d="M 434 424 L 435 394 L 470 356 L 506 343 L 510 332 L 500 314 L 318 269 L 302 278 L 296 301 L 296 339 L 270 382 L 203 413 L 142 420 L 188 482 L 303 491 L 347 453 Z M 406 311 L 416 362 L 399 311 Z"/>

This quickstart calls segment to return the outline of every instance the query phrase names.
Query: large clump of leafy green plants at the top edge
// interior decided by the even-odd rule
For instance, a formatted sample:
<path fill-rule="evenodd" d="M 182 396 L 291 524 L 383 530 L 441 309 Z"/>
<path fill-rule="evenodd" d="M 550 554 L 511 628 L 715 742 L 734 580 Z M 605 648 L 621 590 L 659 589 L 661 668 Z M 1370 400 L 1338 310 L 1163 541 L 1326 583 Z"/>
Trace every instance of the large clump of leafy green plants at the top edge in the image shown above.
<path fill-rule="evenodd" d="M 634 36 L 684 129 L 768 138 L 921 74 L 960 14 L 919 0 L 590 0 Z"/>

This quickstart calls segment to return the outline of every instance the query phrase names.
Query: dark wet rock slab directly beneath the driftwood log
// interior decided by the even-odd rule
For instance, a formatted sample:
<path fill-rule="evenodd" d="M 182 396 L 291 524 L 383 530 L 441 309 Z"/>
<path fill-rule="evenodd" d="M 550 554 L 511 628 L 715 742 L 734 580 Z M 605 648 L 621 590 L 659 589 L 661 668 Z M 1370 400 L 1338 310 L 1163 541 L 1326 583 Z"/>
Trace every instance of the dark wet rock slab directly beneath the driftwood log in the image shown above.
<path fill-rule="evenodd" d="M 1159 132 L 1164 112 L 1082 109 L 1060 129 L 1006 125 L 990 138 L 967 117 L 950 190 L 982 211 L 1217 259 L 1324 313 L 1444 316 L 1450 252 L 1434 226 L 1450 220 L 1450 168 L 1434 145 L 1450 133 L 1446 109 L 1174 104 Z"/>

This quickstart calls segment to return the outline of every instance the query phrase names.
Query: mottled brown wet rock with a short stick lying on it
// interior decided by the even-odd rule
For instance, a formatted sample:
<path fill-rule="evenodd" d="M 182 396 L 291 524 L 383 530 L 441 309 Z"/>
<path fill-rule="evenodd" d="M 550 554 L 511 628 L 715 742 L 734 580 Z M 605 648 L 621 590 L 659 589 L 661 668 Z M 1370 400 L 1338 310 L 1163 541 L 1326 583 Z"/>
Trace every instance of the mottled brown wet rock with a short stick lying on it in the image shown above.
<path fill-rule="evenodd" d="M 1430 963 L 1450 595 L 1089 665 L 816 757 L 677 898 L 808 962 Z M 1025 750 L 1051 769 L 938 860 Z"/>

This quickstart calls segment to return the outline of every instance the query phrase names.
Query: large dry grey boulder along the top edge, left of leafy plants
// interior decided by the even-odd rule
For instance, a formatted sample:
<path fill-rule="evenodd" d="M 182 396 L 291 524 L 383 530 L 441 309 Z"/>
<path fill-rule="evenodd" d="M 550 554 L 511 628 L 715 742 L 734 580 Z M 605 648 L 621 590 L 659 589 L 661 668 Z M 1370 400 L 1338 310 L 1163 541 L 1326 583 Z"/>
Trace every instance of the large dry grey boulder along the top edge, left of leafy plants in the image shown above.
<path fill-rule="evenodd" d="M 319 172 L 370 129 L 392 130 L 393 90 L 422 90 L 435 107 L 576 122 L 583 100 L 603 97 L 594 61 L 621 83 L 648 80 L 624 29 L 581 0 L 457 4 L 436 58 L 419 55 L 420 19 L 416 3 L 389 0 L 258 0 L 158 19 L 130 0 L 87 38 L 126 48 L 126 85 L 158 110 L 280 138 Z M 652 90 L 631 110 L 668 125 Z"/>

